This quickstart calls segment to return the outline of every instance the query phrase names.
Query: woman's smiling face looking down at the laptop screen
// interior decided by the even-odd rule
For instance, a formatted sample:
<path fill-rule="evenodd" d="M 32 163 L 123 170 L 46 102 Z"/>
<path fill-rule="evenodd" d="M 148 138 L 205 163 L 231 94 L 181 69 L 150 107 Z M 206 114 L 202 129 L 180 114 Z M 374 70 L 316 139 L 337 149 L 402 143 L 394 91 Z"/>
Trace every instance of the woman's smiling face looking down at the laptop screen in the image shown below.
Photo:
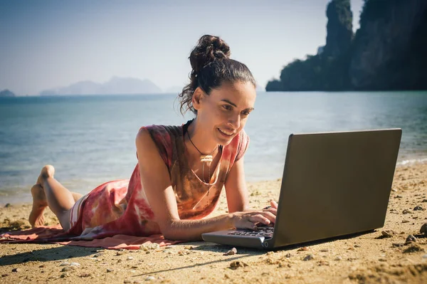
<path fill-rule="evenodd" d="M 197 96 L 193 100 L 193 105 L 204 133 L 211 132 L 216 143 L 225 146 L 246 125 L 256 92 L 250 82 L 223 83 L 220 88 L 211 90 L 210 95 L 199 89 L 198 98 L 198 101 Z"/>

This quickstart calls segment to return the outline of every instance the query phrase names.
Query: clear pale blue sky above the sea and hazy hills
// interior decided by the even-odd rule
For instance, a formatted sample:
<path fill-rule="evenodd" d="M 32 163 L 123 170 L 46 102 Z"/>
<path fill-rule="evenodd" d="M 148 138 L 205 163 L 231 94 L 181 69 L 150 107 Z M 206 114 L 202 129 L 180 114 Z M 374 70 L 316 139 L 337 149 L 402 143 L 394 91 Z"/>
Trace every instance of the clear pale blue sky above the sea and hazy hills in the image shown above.
<path fill-rule="evenodd" d="M 0 0 L 0 90 L 38 95 L 82 80 L 189 82 L 200 36 L 221 36 L 260 88 L 326 42 L 330 0 Z M 351 0 L 353 29 L 363 0 Z"/>

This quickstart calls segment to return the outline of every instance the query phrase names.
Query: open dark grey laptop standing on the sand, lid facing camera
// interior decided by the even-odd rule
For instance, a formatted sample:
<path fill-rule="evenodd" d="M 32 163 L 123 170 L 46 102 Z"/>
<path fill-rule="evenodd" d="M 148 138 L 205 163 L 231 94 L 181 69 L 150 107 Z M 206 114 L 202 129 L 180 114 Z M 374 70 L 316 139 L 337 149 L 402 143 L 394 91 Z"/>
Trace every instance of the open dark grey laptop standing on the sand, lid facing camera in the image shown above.
<path fill-rule="evenodd" d="M 384 226 L 401 129 L 290 135 L 274 228 L 203 233 L 273 249 Z"/>

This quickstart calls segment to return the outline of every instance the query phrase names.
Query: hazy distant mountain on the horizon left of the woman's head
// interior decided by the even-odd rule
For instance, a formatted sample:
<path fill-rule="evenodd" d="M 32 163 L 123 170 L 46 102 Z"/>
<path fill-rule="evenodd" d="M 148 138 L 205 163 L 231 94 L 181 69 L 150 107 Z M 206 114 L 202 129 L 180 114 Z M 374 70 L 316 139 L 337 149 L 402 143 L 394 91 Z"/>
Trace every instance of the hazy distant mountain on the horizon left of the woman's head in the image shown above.
<path fill-rule="evenodd" d="M 112 77 L 106 83 L 80 81 L 68 87 L 43 90 L 40 95 L 124 95 L 124 94 L 153 94 L 162 90 L 150 80 L 137 78 Z"/>

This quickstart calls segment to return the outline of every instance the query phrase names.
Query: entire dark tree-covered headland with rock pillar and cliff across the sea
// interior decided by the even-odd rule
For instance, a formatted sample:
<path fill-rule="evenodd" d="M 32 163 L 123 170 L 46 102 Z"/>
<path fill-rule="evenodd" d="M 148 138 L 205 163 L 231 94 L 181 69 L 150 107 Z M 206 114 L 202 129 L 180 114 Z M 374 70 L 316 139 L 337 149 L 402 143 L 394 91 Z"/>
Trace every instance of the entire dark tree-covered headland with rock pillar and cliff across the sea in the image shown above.
<path fill-rule="evenodd" d="M 349 0 L 330 1 L 326 14 L 323 51 L 286 65 L 265 90 L 427 89 L 427 1 L 364 0 L 355 36 Z"/>

